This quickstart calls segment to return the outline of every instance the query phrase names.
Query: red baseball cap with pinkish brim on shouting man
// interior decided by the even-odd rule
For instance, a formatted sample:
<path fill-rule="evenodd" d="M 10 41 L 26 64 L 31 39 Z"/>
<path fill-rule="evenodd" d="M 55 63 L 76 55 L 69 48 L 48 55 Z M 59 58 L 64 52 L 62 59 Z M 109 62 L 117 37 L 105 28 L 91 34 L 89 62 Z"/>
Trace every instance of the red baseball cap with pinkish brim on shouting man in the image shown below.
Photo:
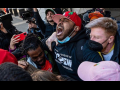
<path fill-rule="evenodd" d="M 61 18 L 67 18 L 75 23 L 76 26 L 79 26 L 81 29 L 82 26 L 82 20 L 81 18 L 76 14 L 76 12 L 67 11 L 63 15 L 62 14 L 55 14 L 53 15 L 52 19 L 55 23 L 58 23 Z"/>

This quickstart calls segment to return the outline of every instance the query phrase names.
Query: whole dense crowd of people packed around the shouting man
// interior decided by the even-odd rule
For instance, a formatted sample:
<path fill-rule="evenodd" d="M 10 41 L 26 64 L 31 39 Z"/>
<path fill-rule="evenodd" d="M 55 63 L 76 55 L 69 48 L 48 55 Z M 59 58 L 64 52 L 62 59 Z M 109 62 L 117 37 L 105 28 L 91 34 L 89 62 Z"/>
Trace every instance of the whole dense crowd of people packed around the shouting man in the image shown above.
<path fill-rule="evenodd" d="M 82 20 L 52 8 L 46 21 L 32 11 L 21 41 L 0 21 L 0 81 L 120 81 L 120 22 L 110 11 L 93 8 Z"/>

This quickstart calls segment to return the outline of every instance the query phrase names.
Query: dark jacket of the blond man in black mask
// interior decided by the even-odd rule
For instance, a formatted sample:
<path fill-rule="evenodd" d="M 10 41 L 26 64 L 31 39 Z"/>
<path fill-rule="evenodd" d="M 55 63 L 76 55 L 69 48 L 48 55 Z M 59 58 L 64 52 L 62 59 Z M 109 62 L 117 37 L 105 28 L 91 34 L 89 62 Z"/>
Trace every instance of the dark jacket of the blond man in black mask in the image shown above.
<path fill-rule="evenodd" d="M 84 59 L 84 61 L 91 61 L 91 62 L 95 62 L 95 63 L 98 63 L 98 62 L 104 60 L 103 56 L 100 55 L 98 52 L 92 51 L 89 49 L 88 42 L 84 45 L 83 59 Z M 118 33 L 115 37 L 114 54 L 113 54 L 111 60 L 120 64 L 120 37 L 119 37 Z"/>

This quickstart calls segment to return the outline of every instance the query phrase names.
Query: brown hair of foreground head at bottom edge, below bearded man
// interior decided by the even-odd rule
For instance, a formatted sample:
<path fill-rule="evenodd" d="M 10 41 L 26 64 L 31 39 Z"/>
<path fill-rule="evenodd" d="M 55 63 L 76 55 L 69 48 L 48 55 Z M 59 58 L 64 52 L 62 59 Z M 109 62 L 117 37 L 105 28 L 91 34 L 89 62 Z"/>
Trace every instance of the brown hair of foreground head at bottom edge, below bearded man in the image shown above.
<path fill-rule="evenodd" d="M 57 75 L 46 70 L 36 70 L 31 74 L 33 81 L 76 81 L 66 75 Z"/>

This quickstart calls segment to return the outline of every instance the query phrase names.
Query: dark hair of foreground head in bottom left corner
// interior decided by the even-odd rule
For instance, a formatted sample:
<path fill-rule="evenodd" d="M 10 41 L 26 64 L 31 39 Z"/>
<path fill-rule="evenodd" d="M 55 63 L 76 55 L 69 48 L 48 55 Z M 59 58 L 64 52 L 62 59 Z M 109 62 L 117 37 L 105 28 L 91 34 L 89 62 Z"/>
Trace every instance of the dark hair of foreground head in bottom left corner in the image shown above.
<path fill-rule="evenodd" d="M 30 74 L 18 65 L 5 62 L 0 65 L 0 81 L 33 81 Z"/>

